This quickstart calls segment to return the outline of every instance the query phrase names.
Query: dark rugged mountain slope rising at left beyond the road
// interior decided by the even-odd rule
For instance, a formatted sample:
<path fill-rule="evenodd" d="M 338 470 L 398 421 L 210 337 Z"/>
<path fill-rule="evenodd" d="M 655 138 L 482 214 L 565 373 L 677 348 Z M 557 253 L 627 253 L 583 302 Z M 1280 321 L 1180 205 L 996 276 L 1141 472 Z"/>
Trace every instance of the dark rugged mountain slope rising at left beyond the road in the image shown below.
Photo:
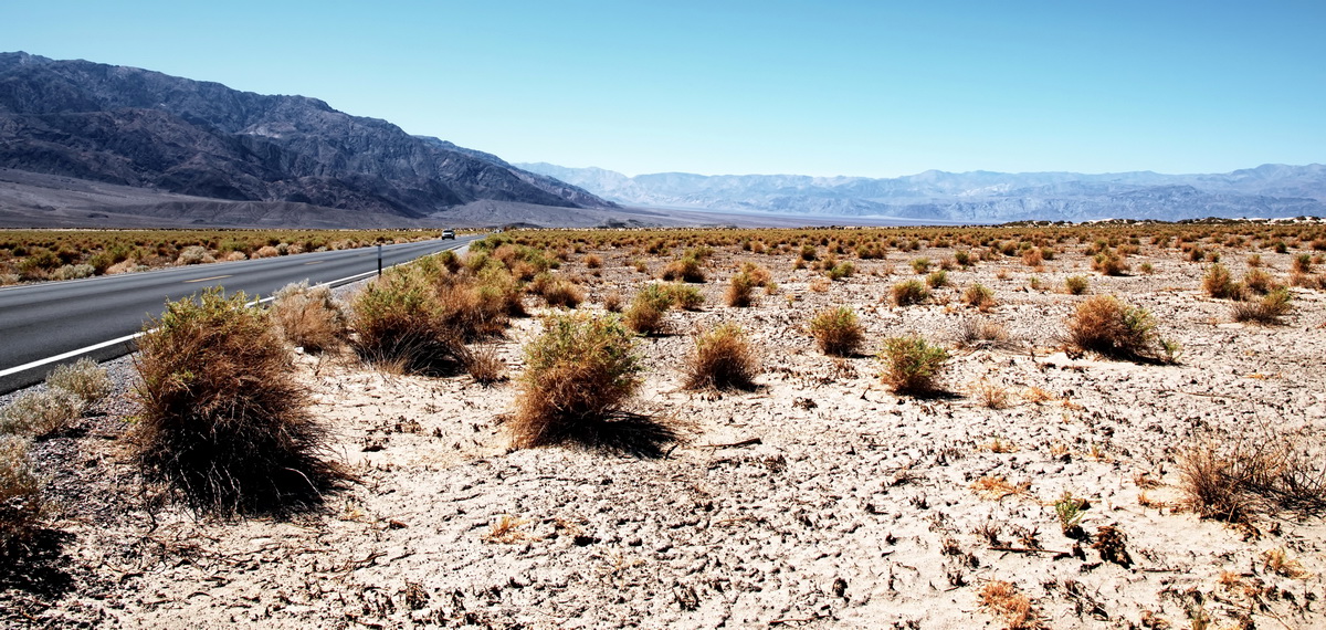
<path fill-rule="evenodd" d="M 0 167 L 277 212 L 298 204 L 419 219 L 484 200 L 615 207 L 316 98 L 27 53 L 0 53 Z"/>

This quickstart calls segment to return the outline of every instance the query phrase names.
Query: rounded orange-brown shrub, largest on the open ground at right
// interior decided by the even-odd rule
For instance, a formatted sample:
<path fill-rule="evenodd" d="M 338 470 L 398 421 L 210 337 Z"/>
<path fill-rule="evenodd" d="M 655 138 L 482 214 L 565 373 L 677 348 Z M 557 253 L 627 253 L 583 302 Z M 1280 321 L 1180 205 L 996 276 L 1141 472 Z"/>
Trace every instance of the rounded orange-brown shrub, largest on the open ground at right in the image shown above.
<path fill-rule="evenodd" d="M 1155 338 L 1151 313 L 1114 296 L 1089 297 L 1069 318 L 1067 328 L 1075 346 L 1106 357 L 1142 357 Z"/>

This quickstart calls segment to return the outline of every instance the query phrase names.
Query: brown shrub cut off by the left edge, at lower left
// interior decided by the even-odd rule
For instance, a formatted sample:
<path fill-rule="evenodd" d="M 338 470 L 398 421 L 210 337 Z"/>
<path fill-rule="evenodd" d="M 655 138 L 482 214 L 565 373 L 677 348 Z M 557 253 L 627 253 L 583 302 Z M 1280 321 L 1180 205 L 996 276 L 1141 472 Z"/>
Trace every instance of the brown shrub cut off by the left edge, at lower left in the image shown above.
<path fill-rule="evenodd" d="M 25 438 L 0 435 L 0 558 L 21 552 L 45 509 L 28 447 Z"/>

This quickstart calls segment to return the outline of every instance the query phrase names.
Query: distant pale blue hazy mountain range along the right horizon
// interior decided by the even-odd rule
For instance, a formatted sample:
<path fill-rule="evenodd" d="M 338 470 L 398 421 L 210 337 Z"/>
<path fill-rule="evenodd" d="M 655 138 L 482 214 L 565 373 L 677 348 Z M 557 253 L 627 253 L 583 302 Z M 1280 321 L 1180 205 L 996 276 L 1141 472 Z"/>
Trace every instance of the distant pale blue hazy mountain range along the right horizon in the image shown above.
<path fill-rule="evenodd" d="M 629 178 L 602 168 L 516 166 L 629 206 L 972 223 L 1326 215 L 1322 164 L 1212 175 L 926 171 L 892 179 L 688 172 Z"/>

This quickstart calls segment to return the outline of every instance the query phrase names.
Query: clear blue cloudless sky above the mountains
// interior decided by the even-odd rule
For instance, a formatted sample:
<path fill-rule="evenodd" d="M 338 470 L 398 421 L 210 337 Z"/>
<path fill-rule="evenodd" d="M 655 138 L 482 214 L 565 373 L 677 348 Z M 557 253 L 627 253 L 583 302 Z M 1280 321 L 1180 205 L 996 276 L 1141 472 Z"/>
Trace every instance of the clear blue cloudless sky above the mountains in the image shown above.
<path fill-rule="evenodd" d="M 11 1 L 0 50 L 627 174 L 1326 162 L 1315 1 Z"/>

